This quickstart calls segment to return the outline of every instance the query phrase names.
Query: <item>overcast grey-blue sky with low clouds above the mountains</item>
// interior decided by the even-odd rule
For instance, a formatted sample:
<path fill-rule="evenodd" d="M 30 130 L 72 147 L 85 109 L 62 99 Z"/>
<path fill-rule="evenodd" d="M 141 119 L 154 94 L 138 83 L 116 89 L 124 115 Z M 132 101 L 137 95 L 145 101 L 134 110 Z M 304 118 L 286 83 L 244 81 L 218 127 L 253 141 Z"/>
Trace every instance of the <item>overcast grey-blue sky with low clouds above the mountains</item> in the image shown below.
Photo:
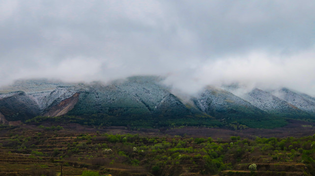
<path fill-rule="evenodd" d="M 165 76 L 315 95 L 314 0 L 0 0 L 0 86 Z"/>

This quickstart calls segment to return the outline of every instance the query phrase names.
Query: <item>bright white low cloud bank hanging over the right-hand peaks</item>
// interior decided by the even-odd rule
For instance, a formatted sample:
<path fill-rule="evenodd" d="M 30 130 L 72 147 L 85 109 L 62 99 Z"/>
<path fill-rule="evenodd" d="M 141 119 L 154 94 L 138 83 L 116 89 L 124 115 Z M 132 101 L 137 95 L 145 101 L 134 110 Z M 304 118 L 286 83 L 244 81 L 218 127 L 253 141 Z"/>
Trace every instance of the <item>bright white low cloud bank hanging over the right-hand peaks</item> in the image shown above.
<path fill-rule="evenodd" d="M 315 95 L 315 47 L 290 56 L 268 55 L 261 51 L 207 61 L 169 75 L 165 83 L 188 93 L 207 85 L 239 84 L 243 88 L 293 88 Z"/>

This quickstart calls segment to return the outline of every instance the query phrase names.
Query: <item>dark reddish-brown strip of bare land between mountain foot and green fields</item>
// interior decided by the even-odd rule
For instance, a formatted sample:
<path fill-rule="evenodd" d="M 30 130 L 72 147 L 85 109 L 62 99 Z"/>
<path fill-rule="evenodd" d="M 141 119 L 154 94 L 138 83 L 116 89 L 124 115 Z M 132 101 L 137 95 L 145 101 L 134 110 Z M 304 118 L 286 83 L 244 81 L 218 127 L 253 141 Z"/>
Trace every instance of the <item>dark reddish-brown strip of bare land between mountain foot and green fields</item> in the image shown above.
<path fill-rule="evenodd" d="M 112 134 L 140 134 L 144 136 L 165 136 L 180 135 L 185 137 L 212 137 L 213 139 L 222 138 L 227 140 L 230 136 L 240 136 L 242 138 L 255 139 L 256 137 L 303 137 L 315 134 L 315 123 L 299 120 L 289 120 L 288 125 L 275 129 L 246 129 L 246 130 L 229 130 L 223 128 L 205 128 L 205 127 L 182 127 L 173 129 L 138 129 L 130 130 L 126 127 L 104 127 L 96 128 L 83 126 L 79 124 L 50 124 L 43 123 L 44 126 L 61 125 L 69 133 L 85 133 L 85 132 L 108 132 Z M 20 125 L 21 122 L 15 124 L 19 126 L 19 130 L 29 129 L 38 130 L 35 125 Z"/>

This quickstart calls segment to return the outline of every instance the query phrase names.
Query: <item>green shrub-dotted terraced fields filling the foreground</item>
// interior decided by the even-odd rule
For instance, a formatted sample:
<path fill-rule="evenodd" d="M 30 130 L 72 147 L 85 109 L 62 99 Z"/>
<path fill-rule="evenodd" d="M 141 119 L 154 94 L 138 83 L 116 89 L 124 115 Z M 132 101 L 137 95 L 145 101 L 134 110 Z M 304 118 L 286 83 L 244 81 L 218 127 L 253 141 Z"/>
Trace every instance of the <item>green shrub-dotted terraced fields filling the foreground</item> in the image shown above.
<path fill-rule="evenodd" d="M 61 176 L 61 167 L 62 176 L 314 175 L 314 136 L 223 140 L 105 131 L 0 126 L 0 176 Z"/>

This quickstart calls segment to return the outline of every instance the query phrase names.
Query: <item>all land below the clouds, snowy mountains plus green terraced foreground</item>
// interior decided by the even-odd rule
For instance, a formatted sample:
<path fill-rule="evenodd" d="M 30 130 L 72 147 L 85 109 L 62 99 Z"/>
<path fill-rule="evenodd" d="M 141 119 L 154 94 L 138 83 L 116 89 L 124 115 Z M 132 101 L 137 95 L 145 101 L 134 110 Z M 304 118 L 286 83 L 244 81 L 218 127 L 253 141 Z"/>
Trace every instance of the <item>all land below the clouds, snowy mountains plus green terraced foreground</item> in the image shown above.
<path fill-rule="evenodd" d="M 0 175 L 315 175 L 315 98 L 213 86 L 183 98 L 162 80 L 1 88 Z"/>

